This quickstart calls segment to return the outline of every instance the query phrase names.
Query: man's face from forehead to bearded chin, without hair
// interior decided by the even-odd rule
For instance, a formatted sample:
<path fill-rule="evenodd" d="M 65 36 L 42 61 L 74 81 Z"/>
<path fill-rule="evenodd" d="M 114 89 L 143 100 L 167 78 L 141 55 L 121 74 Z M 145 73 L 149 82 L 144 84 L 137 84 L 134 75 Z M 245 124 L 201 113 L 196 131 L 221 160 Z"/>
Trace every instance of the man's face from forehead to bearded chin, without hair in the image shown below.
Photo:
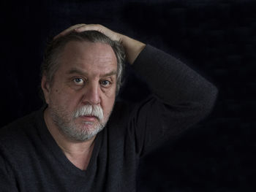
<path fill-rule="evenodd" d="M 53 82 L 43 88 L 50 117 L 69 139 L 91 139 L 113 110 L 116 55 L 110 45 L 74 41 L 67 43 L 58 61 Z"/>

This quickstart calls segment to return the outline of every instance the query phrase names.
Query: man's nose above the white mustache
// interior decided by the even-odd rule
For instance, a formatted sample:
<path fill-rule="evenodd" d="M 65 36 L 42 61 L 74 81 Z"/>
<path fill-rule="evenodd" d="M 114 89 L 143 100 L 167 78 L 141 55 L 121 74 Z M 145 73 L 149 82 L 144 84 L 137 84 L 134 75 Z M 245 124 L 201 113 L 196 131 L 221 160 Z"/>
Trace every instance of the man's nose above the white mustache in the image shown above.
<path fill-rule="evenodd" d="M 100 103 L 100 89 L 98 83 L 89 83 L 86 87 L 86 91 L 83 94 L 84 104 L 99 104 Z"/>

